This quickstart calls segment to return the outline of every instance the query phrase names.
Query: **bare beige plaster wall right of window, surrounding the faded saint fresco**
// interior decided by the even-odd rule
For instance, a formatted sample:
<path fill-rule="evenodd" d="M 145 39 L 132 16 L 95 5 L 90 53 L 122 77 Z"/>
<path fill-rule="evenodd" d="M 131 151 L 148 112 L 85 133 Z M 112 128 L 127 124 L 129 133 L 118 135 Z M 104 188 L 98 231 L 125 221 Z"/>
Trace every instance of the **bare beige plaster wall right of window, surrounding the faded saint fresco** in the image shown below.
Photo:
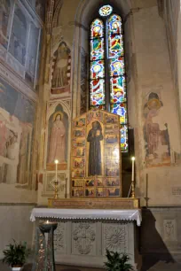
<path fill-rule="evenodd" d="M 134 46 L 137 63 L 137 126 L 139 175 L 138 194 L 146 197 L 146 183 L 149 205 L 177 205 L 179 200 L 172 194 L 172 188 L 179 186 L 180 165 L 175 153 L 180 152 L 180 134 L 177 97 L 172 82 L 169 50 L 163 20 L 158 15 L 157 6 L 144 8 L 133 13 Z M 146 142 L 144 140 L 144 106 L 149 93 L 156 93 L 162 108 L 153 122 L 168 123 L 170 166 L 153 161 L 146 164 Z M 137 139 L 136 139 L 137 140 Z M 153 159 L 154 160 L 154 159 Z M 146 181 L 147 178 L 147 181 Z M 159 193 L 158 193 L 159 188 Z M 169 196 L 169 202 L 168 202 Z"/>

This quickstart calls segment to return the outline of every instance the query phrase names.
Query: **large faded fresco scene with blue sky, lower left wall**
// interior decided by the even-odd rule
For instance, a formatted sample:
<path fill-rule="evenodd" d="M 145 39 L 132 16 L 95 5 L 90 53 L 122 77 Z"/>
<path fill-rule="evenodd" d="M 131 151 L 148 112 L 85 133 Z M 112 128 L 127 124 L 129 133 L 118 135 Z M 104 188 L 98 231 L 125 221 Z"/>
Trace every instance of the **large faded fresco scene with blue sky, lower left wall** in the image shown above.
<path fill-rule="evenodd" d="M 0 182 L 31 188 L 35 104 L 0 79 Z"/>

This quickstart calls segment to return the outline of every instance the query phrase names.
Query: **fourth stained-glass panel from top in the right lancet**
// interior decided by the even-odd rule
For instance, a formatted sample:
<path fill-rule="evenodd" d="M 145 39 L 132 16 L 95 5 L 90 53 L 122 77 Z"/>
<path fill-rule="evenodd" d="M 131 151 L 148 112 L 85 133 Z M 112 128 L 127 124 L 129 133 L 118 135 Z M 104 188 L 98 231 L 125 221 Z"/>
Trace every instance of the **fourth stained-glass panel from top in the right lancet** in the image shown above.
<path fill-rule="evenodd" d="M 126 81 L 124 76 L 111 78 L 111 104 L 126 102 Z"/>

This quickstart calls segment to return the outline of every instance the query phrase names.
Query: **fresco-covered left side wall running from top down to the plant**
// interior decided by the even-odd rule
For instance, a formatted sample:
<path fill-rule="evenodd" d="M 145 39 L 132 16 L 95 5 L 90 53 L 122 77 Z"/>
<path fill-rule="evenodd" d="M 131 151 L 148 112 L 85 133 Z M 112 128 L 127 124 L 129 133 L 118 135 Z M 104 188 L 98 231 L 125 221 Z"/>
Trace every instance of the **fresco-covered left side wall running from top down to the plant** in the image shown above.
<path fill-rule="evenodd" d="M 12 238 L 29 247 L 32 243 L 29 216 L 37 200 L 37 81 L 45 3 L 1 2 L 0 258 Z"/>

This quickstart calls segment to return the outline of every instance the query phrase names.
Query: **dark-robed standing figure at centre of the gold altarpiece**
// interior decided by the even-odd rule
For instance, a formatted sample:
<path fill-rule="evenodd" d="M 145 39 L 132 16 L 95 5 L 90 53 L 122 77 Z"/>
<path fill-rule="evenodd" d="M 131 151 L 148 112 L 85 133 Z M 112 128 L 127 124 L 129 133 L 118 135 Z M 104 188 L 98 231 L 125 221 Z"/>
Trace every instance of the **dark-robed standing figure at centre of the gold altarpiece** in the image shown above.
<path fill-rule="evenodd" d="M 88 176 L 101 175 L 101 145 L 100 141 L 103 140 L 102 128 L 98 120 L 92 122 L 92 128 L 89 131 L 87 142 L 90 143 L 89 148 L 89 165 Z"/>

